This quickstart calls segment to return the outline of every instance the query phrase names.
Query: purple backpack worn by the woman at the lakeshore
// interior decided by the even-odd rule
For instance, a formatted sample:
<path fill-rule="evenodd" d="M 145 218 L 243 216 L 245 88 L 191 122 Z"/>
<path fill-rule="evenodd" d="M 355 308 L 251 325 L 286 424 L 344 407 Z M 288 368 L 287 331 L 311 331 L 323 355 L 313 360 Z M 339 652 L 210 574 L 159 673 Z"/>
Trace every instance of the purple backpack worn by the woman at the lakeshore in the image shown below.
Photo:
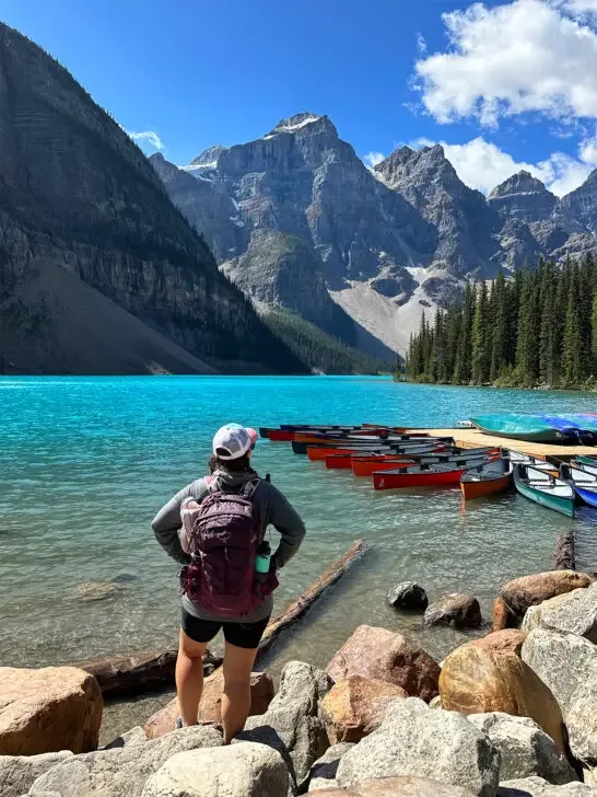
<path fill-rule="evenodd" d="M 183 569 L 180 585 L 194 603 L 215 616 L 244 616 L 278 586 L 273 573 L 265 582 L 255 579 L 265 531 L 253 505 L 258 484 L 259 478 L 248 482 L 239 493 L 210 492 L 192 524 L 192 562 Z"/>

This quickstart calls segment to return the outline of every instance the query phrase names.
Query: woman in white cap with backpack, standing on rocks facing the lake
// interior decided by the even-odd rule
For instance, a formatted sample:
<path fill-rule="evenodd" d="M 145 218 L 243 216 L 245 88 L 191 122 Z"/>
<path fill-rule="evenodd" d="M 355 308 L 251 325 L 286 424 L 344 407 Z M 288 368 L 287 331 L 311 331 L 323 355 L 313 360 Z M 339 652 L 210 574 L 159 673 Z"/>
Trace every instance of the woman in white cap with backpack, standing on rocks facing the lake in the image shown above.
<path fill-rule="evenodd" d="M 219 429 L 213 438 L 212 476 L 187 485 L 152 522 L 164 551 L 189 566 L 183 578 L 176 662 L 180 708 L 177 725 L 197 724 L 203 690 L 202 656 L 208 643 L 223 628 L 224 744 L 243 730 L 250 709 L 250 673 L 271 615 L 276 573 L 298 551 L 305 535 L 305 525 L 286 498 L 250 466 L 253 443 L 244 427 L 231 424 Z M 189 498 L 199 507 L 183 546 L 180 509 Z M 269 573 L 262 574 L 258 563 L 258 575 L 255 568 L 259 543 L 270 524 L 280 532 L 281 540 L 271 556 Z"/>

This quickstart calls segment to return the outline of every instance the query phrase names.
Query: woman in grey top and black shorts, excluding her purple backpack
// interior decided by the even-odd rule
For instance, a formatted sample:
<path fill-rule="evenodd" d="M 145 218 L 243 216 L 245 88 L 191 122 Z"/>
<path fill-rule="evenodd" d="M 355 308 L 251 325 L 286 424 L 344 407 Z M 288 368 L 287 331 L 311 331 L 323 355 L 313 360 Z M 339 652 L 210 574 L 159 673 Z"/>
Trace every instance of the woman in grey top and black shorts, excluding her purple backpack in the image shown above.
<path fill-rule="evenodd" d="M 177 493 L 157 512 L 152 522 L 154 534 L 164 551 L 176 562 L 186 565 L 191 557 L 180 544 L 180 507 L 186 498 L 199 504 L 220 490 L 243 493 L 251 486 L 250 500 L 261 538 L 268 525 L 280 532 L 278 550 L 271 557 L 271 569 L 279 570 L 298 551 L 305 535 L 305 525 L 286 498 L 270 482 L 260 480 L 249 464 L 253 439 L 244 427 L 227 425 L 213 438 L 215 471 L 209 478 L 198 478 Z M 255 485 L 255 486 L 253 486 Z M 203 690 L 202 656 L 218 632 L 223 628 L 225 639 L 224 692 L 222 695 L 222 724 L 224 744 L 245 727 L 250 708 L 250 673 L 257 647 L 272 611 L 271 594 L 243 616 L 223 616 L 207 611 L 188 594 L 182 600 L 183 619 L 176 662 L 176 690 L 180 718 L 178 726 L 197 724 L 199 702 Z"/>

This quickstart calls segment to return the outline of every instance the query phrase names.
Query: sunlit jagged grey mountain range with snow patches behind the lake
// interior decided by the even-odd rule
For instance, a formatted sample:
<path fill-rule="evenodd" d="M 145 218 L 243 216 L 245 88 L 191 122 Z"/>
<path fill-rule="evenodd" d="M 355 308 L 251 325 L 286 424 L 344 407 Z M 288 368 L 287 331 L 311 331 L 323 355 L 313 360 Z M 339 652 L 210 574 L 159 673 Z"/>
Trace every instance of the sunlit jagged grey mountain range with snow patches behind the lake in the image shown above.
<path fill-rule="evenodd" d="M 520 172 L 485 198 L 441 146 L 367 169 L 313 113 L 186 166 L 150 160 L 260 312 L 282 308 L 370 353 L 372 338 L 403 353 L 421 312 L 458 301 L 467 279 L 596 245 L 597 178 L 558 200 Z"/>

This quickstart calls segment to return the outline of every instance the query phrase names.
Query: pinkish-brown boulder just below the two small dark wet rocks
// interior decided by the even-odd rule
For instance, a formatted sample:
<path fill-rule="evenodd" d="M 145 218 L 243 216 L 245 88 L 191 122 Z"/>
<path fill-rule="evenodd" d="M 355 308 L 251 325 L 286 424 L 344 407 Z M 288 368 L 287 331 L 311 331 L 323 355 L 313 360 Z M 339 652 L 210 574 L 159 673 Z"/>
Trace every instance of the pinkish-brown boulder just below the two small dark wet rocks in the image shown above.
<path fill-rule="evenodd" d="M 401 686 L 409 695 L 430 701 L 437 694 L 440 665 L 402 634 L 360 625 L 327 668 L 335 681 L 363 675 Z"/>

